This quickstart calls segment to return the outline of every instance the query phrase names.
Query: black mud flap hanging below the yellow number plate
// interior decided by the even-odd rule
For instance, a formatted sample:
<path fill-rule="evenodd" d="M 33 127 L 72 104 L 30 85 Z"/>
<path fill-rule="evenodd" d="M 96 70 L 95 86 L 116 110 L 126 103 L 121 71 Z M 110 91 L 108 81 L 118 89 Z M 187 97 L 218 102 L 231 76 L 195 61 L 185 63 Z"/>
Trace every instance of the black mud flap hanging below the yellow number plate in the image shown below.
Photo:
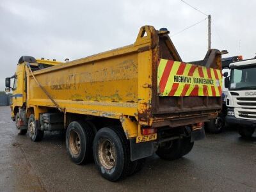
<path fill-rule="evenodd" d="M 147 141 L 142 143 L 136 143 L 136 138 L 130 140 L 131 147 L 131 161 L 136 161 L 145 157 L 152 156 L 155 152 L 154 142 Z"/>

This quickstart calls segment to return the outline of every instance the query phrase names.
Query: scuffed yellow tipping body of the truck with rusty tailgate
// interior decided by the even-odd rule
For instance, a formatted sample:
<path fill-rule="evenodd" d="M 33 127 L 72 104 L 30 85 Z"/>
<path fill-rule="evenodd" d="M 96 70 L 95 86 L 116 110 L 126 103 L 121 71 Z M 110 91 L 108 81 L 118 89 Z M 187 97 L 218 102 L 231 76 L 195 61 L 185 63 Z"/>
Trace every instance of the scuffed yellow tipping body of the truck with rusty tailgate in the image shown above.
<path fill-rule="evenodd" d="M 117 119 L 133 116 L 139 125 L 153 127 L 177 127 L 214 118 L 221 109 L 221 93 L 172 97 L 159 93 L 157 70 L 163 60 L 181 61 L 168 35 L 145 26 L 133 45 L 37 70 L 34 75 L 67 113 Z M 220 52 L 211 50 L 199 64 L 220 69 L 220 62 Z M 55 107 L 31 75 L 28 106 Z M 129 138 L 138 136 L 137 131 L 128 132 Z"/>

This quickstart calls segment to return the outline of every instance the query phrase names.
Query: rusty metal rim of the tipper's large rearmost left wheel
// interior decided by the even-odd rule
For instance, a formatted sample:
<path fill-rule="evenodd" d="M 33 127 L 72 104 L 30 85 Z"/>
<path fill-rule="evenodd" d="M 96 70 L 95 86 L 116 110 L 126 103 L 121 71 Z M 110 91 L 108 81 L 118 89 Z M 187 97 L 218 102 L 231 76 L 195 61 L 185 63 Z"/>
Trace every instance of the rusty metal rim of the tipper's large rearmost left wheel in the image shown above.
<path fill-rule="evenodd" d="M 104 168 L 110 170 L 116 164 L 116 148 L 115 145 L 107 140 L 101 140 L 99 143 L 99 160 Z"/>

